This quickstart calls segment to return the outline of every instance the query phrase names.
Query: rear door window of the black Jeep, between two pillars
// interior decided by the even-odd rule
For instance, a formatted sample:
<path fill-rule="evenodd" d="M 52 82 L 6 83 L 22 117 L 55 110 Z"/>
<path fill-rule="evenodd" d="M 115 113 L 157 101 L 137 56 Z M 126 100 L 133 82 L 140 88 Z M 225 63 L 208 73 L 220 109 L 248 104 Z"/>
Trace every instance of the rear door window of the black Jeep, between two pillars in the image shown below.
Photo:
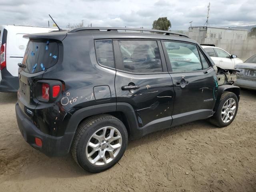
<path fill-rule="evenodd" d="M 124 70 L 134 73 L 162 72 L 162 62 L 156 41 L 119 40 Z"/>

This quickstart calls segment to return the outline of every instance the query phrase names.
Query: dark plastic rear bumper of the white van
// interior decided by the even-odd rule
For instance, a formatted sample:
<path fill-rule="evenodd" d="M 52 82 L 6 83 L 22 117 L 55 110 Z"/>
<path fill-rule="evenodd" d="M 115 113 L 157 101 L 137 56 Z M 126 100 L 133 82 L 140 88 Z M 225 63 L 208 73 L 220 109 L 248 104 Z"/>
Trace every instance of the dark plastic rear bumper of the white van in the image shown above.
<path fill-rule="evenodd" d="M 0 92 L 17 92 L 19 78 L 12 76 L 6 68 L 1 71 Z"/>

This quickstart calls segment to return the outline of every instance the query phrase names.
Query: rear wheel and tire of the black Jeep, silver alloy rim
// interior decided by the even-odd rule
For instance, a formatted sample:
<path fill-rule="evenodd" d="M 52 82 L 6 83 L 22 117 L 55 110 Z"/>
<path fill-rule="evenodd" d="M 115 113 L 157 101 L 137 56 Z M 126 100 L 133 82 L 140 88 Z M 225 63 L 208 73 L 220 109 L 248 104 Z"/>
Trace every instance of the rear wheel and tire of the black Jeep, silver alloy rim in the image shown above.
<path fill-rule="evenodd" d="M 127 144 L 124 124 L 114 116 L 101 114 L 79 124 L 71 152 L 82 169 L 98 173 L 114 166 L 124 155 Z"/>

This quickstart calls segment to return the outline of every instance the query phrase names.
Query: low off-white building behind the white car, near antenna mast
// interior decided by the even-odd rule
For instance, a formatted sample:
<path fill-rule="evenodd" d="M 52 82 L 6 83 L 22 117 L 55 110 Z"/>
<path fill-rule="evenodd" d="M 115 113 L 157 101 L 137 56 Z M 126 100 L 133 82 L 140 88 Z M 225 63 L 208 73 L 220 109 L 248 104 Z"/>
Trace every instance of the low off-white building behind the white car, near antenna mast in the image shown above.
<path fill-rule="evenodd" d="M 200 44 L 206 43 L 205 39 L 246 40 L 247 34 L 248 30 L 244 29 L 210 26 L 189 27 L 188 30 L 188 36 Z"/>

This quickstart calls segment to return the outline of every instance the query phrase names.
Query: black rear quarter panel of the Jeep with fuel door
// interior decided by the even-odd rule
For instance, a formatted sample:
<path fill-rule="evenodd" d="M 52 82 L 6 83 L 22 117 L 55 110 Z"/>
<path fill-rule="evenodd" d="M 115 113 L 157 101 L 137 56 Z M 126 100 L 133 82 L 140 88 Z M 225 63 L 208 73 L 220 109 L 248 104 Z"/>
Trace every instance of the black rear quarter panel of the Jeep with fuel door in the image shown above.
<path fill-rule="evenodd" d="M 44 122 L 48 133 L 53 132 L 54 128 L 58 129 L 57 136 L 64 134 L 65 130 L 62 130 L 62 126 L 79 109 L 105 103 L 116 103 L 114 88 L 116 70 L 98 65 L 92 34 L 70 33 L 62 41 L 62 45 L 63 51 L 59 52 L 61 61 L 45 70 L 42 78 L 60 80 L 64 84 L 64 91 L 49 109 L 36 109 L 36 121 Z M 103 91 L 100 92 L 101 90 Z M 43 104 L 45 105 L 45 103 Z M 40 102 L 38 106 L 40 106 Z M 52 115 L 44 115 L 49 113 Z M 55 113 L 59 115 L 57 118 L 59 122 L 56 122 Z M 43 126 L 42 123 L 41 125 Z M 74 127 L 75 130 L 76 127 Z"/>

